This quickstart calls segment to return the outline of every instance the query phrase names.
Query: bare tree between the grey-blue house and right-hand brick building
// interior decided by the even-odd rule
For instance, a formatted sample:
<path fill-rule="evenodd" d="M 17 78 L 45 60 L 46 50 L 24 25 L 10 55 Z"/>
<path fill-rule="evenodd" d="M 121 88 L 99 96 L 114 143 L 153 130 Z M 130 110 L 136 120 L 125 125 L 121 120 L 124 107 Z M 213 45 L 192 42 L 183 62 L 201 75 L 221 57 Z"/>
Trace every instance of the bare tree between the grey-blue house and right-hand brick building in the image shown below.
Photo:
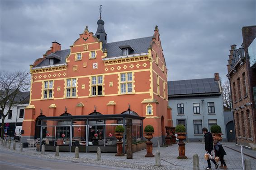
<path fill-rule="evenodd" d="M 226 80 L 222 84 L 222 98 L 223 98 L 223 105 L 226 106 L 229 110 L 231 110 L 232 100 L 231 100 L 230 84 L 228 80 Z"/>

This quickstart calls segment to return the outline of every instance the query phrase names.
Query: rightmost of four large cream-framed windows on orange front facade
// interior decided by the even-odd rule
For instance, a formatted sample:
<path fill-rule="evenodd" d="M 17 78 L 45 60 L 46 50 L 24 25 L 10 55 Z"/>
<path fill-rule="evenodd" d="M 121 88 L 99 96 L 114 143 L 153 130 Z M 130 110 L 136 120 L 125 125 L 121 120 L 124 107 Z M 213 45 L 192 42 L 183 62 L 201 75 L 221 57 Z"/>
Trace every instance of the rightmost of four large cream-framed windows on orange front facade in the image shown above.
<path fill-rule="evenodd" d="M 121 93 L 131 93 L 133 92 L 133 74 L 132 73 L 121 73 Z"/>

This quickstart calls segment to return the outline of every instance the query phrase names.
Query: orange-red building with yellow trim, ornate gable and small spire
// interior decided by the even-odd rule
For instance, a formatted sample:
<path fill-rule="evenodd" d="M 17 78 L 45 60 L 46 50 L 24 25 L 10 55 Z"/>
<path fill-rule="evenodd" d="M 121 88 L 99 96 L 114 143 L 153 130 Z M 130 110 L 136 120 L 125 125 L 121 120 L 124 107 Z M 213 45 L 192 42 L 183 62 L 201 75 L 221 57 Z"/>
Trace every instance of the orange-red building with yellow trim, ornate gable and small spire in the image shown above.
<path fill-rule="evenodd" d="M 38 116 L 120 114 L 128 109 L 146 117 L 153 141 L 171 126 L 167 101 L 167 69 L 158 27 L 151 37 L 107 43 L 104 21 L 96 33 L 79 34 L 70 49 L 52 42 L 43 58 L 30 65 L 30 103 L 26 108 L 23 140 L 40 137 Z M 65 112 L 65 113 L 66 113 Z M 64 114 L 65 115 L 65 114 Z"/>

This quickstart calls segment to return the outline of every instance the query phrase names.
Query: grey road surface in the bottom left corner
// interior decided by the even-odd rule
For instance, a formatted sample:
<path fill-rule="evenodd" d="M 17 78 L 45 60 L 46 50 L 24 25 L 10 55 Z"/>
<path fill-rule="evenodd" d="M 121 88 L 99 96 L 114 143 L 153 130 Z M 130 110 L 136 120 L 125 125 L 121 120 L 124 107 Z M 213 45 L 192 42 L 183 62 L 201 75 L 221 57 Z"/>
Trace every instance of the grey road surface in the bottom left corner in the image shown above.
<path fill-rule="evenodd" d="M 52 160 L 1 151 L 0 170 L 119 170 L 124 168 Z M 126 169 L 128 170 L 128 169 Z"/>

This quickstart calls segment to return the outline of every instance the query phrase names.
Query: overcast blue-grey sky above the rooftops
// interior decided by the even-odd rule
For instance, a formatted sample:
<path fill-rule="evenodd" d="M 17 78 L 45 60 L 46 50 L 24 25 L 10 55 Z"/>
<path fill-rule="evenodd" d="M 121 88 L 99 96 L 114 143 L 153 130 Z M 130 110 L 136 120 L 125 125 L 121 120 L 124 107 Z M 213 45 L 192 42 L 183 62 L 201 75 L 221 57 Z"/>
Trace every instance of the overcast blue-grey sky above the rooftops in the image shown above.
<path fill-rule="evenodd" d="M 50 49 L 62 49 L 88 25 L 96 32 L 99 5 L 108 42 L 153 35 L 158 25 L 168 80 L 226 79 L 230 45 L 242 27 L 256 25 L 255 0 L 228 1 L 0 1 L 0 69 L 29 70 Z"/>

